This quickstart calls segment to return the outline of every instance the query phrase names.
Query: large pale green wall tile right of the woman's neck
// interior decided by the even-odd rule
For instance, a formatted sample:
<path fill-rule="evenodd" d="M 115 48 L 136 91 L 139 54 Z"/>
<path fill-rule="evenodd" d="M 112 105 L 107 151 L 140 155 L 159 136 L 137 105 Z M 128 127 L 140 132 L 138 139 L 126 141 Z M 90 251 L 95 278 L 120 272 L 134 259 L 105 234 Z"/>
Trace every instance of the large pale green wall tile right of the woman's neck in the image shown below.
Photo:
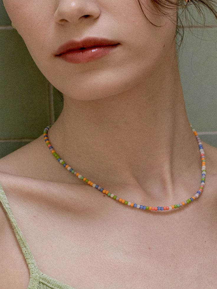
<path fill-rule="evenodd" d="M 192 32 L 185 33 L 179 55 L 188 119 L 196 131 L 217 131 L 217 29 Z"/>

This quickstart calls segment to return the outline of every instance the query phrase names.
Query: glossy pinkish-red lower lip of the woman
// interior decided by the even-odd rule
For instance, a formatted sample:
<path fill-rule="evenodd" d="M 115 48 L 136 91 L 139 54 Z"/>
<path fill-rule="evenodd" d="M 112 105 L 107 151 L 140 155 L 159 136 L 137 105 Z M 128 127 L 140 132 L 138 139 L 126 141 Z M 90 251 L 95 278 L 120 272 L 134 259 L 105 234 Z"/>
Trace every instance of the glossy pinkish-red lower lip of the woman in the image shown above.
<path fill-rule="evenodd" d="M 57 56 L 70 63 L 86 63 L 107 55 L 118 45 L 119 44 L 71 50 Z"/>

